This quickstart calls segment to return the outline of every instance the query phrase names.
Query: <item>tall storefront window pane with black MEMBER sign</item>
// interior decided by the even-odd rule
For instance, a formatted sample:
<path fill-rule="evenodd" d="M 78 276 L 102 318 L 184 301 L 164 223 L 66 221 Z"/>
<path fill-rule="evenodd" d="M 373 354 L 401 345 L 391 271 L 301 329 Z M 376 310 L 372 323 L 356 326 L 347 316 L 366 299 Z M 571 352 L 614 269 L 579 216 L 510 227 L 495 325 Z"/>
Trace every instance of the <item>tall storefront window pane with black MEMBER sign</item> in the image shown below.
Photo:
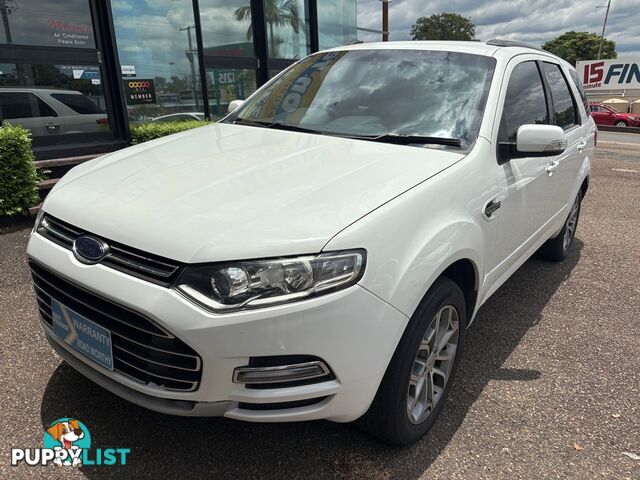
<path fill-rule="evenodd" d="M 111 5 L 130 123 L 178 112 L 201 114 L 191 0 L 113 0 Z"/>

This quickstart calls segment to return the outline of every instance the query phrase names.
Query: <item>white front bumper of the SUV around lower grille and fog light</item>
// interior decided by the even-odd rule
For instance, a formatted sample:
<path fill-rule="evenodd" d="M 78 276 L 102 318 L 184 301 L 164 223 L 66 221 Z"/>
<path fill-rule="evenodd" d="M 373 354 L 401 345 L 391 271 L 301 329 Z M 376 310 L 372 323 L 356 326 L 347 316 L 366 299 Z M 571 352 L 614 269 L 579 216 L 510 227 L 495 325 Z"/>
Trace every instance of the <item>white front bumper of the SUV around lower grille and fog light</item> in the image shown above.
<path fill-rule="evenodd" d="M 358 285 L 297 303 L 217 315 L 172 289 L 102 265 L 84 265 L 71 251 L 37 233 L 31 235 L 27 253 L 57 275 L 148 317 L 200 355 L 199 388 L 169 391 L 103 368 L 68 347 L 42 322 L 49 342 L 74 368 L 116 395 L 163 413 L 256 422 L 355 420 L 373 400 L 408 322 Z M 233 382 L 234 369 L 248 365 L 251 357 L 282 355 L 319 357 L 335 378 L 260 389 Z M 320 398 L 310 405 L 272 408 Z"/>

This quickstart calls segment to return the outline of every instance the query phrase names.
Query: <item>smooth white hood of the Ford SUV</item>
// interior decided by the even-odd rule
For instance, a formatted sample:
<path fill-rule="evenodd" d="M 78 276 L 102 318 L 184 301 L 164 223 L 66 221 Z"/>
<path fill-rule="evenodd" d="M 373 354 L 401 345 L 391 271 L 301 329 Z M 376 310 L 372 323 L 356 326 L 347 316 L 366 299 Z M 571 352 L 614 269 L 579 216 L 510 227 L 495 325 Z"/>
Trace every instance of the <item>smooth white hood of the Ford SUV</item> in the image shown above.
<path fill-rule="evenodd" d="M 462 157 L 218 123 L 75 167 L 44 210 L 181 262 L 316 253 Z"/>

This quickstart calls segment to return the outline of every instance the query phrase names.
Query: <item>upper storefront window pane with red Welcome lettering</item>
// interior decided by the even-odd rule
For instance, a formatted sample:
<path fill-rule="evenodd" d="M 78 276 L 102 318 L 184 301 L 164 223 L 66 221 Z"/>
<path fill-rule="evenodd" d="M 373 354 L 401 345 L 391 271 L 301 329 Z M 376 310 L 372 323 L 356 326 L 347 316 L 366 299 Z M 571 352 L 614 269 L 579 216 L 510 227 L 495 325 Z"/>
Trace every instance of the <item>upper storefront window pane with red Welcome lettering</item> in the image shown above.
<path fill-rule="evenodd" d="M 0 44 L 96 47 L 87 0 L 2 0 L 0 10 Z"/>

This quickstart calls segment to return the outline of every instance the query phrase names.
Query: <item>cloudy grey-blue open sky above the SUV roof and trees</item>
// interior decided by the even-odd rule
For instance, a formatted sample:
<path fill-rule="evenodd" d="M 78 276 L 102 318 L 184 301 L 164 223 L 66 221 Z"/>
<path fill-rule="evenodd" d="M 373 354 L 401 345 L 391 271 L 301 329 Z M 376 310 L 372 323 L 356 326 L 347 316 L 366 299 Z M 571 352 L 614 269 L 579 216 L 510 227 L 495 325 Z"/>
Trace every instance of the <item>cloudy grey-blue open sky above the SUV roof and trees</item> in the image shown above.
<path fill-rule="evenodd" d="M 507 38 L 542 45 L 566 31 L 602 31 L 607 0 L 393 0 L 391 40 L 410 39 L 416 18 L 441 12 L 471 17 L 480 40 Z M 358 25 L 381 28 L 379 0 L 358 0 Z M 363 40 L 372 39 L 366 34 Z M 640 0 L 612 0 L 605 37 L 616 41 L 618 57 L 640 56 Z"/>

